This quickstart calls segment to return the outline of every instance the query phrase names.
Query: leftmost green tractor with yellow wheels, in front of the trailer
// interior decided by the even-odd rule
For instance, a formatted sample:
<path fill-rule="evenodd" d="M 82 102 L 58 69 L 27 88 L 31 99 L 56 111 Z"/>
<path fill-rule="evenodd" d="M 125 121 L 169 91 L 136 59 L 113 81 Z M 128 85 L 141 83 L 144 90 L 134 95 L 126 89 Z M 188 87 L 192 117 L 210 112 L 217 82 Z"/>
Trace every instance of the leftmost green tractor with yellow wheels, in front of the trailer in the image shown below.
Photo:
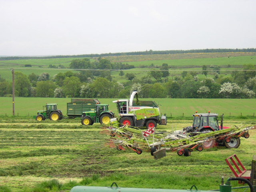
<path fill-rule="evenodd" d="M 44 107 L 46 110 L 44 110 Z M 46 104 L 43 106 L 43 110 L 39 110 L 37 112 L 36 120 L 43 121 L 46 119 L 50 119 L 53 121 L 57 121 L 63 118 L 63 114 L 61 110 L 57 109 L 57 104 Z"/>

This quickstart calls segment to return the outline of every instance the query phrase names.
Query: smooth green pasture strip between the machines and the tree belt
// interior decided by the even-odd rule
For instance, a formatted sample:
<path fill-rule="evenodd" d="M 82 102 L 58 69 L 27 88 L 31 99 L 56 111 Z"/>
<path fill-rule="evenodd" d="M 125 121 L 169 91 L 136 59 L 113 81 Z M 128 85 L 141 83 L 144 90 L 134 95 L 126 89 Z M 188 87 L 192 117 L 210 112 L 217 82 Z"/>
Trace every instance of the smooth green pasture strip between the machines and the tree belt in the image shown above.
<path fill-rule="evenodd" d="M 98 98 L 102 104 L 109 104 L 110 110 L 117 114 L 113 100 L 120 98 Z M 160 112 L 170 117 L 190 117 L 195 111 L 224 114 L 224 116 L 256 115 L 256 99 L 173 99 L 173 98 L 141 98 L 154 100 L 160 106 Z M 70 98 L 15 98 L 15 116 L 34 116 L 46 103 L 56 103 L 66 115 L 66 104 Z M 12 98 L 0 97 L 0 116 L 12 116 Z"/>

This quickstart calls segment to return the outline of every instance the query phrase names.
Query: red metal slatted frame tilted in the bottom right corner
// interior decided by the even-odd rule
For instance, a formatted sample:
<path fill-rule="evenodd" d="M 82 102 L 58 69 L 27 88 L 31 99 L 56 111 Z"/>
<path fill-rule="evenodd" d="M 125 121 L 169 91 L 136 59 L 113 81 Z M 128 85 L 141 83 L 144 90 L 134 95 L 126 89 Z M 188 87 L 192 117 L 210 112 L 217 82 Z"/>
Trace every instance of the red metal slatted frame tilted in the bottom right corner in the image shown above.
<path fill-rule="evenodd" d="M 236 154 L 226 158 L 225 161 L 236 177 L 242 177 L 250 180 L 251 170 L 246 170 L 246 168 L 244 167 L 242 162 L 239 160 L 239 158 L 236 156 Z M 234 167 L 237 169 L 237 172 L 234 169 Z"/>

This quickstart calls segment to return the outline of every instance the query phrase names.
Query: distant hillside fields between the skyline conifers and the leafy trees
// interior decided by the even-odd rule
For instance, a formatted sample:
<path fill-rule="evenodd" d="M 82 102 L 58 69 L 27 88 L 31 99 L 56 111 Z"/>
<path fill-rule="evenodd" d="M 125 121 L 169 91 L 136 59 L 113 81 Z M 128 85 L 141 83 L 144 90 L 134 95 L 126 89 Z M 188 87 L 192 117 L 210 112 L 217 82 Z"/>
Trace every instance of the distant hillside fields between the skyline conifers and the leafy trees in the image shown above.
<path fill-rule="evenodd" d="M 158 70 L 163 63 L 167 63 L 170 68 L 170 76 L 180 75 L 183 70 L 196 70 L 198 74 L 202 70 L 202 65 L 220 66 L 220 74 L 231 74 L 230 70 L 242 69 L 244 64 L 256 64 L 255 53 L 194 53 L 194 54 L 167 54 L 167 55 L 142 55 L 142 56 L 111 56 L 106 57 L 112 62 L 124 62 L 134 65 L 136 68 L 124 70 L 125 73 L 133 72 L 137 78 L 145 76 L 148 70 Z M 130 59 L 128 59 L 130 58 Z M 0 75 L 8 81 L 12 80 L 10 68 L 22 72 L 26 75 L 31 73 L 42 74 L 47 72 L 52 78 L 55 74 L 66 72 L 70 62 L 76 58 L 52 58 L 52 59 L 25 59 L 25 60 L 0 60 Z M 91 61 L 97 58 L 91 59 Z M 31 64 L 32 67 L 24 67 L 25 64 Z M 49 64 L 58 66 L 63 65 L 65 69 L 48 68 Z M 230 64 L 231 67 L 227 67 Z M 152 66 L 153 65 L 153 66 Z M 208 68 L 211 70 L 212 68 Z M 76 72 L 73 70 L 73 72 Z M 119 71 L 112 71 L 114 80 L 126 82 L 126 78 L 120 77 Z M 153 79 L 152 79 L 153 80 Z"/>

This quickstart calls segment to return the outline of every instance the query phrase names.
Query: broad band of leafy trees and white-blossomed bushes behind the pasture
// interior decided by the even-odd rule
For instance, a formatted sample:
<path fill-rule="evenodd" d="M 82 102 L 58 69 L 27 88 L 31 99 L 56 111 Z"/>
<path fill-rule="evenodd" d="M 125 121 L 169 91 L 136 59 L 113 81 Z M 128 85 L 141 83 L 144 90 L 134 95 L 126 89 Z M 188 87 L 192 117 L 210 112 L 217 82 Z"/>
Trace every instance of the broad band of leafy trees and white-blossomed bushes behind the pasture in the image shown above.
<path fill-rule="evenodd" d="M 125 70 L 130 67 L 134 66 L 111 63 L 107 59 L 98 63 L 75 59 L 70 68 L 76 68 L 77 72 L 60 72 L 50 77 L 45 72 L 26 75 L 15 71 L 15 96 L 128 98 L 137 90 L 142 98 L 255 98 L 256 67 L 252 64 L 244 65 L 243 70 L 234 71 L 231 76 L 220 75 L 221 68 L 212 65 L 202 66 L 201 71 L 174 75 L 170 74 L 171 66 L 163 63 L 158 70 L 145 72 L 140 77 Z M 111 70 L 116 68 L 120 69 L 118 75 L 125 78 L 125 82 L 114 80 Z M 199 79 L 198 74 L 204 74 L 205 78 Z M 12 82 L 0 77 L 0 96 L 11 95 Z"/>

